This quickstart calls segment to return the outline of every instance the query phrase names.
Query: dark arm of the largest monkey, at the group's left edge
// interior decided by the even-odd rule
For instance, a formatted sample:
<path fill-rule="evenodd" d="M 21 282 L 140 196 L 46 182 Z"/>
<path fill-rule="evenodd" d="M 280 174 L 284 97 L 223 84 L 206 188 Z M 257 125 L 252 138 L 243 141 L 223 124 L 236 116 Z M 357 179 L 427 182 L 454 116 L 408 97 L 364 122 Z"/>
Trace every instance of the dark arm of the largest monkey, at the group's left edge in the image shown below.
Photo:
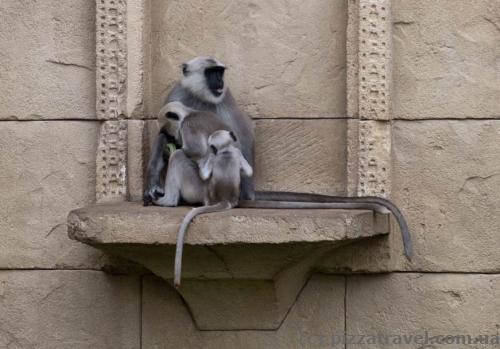
<path fill-rule="evenodd" d="M 156 137 L 153 145 L 153 152 L 151 153 L 151 158 L 148 163 L 148 185 L 143 198 L 144 206 L 148 206 L 154 200 L 157 200 L 165 194 L 163 188 L 161 187 L 160 174 L 165 166 L 163 151 L 168 142 L 168 135 L 164 132 L 160 132 Z"/>

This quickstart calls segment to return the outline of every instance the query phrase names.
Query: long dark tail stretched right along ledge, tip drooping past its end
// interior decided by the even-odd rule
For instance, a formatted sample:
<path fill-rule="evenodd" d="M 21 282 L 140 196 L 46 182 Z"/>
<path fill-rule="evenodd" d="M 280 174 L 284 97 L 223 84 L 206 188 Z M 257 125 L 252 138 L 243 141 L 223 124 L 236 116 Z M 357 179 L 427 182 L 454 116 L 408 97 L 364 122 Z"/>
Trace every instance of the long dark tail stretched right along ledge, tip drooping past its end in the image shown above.
<path fill-rule="evenodd" d="M 323 195 L 323 194 L 309 194 L 309 193 L 294 193 L 294 192 L 278 192 L 278 191 L 257 191 L 255 192 L 255 200 L 256 202 L 259 201 L 275 201 L 275 202 L 301 202 L 301 203 L 352 203 L 352 204 L 372 204 L 372 205 L 378 205 L 378 206 L 383 206 L 387 210 L 389 210 L 394 217 L 396 218 L 396 221 L 398 222 L 399 229 L 401 230 L 401 236 L 403 238 L 403 247 L 404 247 L 404 252 L 406 258 L 411 260 L 411 257 L 413 255 L 413 245 L 411 241 L 411 235 L 410 235 L 410 230 L 408 228 L 408 224 L 406 223 L 406 219 L 403 216 L 403 213 L 399 210 L 399 208 L 394 205 L 391 201 L 384 199 L 384 198 L 379 198 L 376 196 L 332 196 L 332 195 Z M 247 202 L 250 201 L 245 201 L 245 202 L 240 202 L 240 205 L 246 204 Z M 279 206 L 279 205 L 277 205 Z M 243 206 L 242 206 L 243 207 Z M 246 206 L 249 207 L 249 206 Z M 271 208 L 271 206 L 267 206 L 268 208 Z M 280 207 L 274 207 L 274 208 L 280 208 Z M 284 208 L 284 207 L 281 207 Z M 290 208 L 290 207 L 289 207 Z M 322 208 L 321 206 L 318 207 L 311 207 L 311 208 Z M 323 208 L 326 208 L 323 206 Z M 334 207 L 331 207 L 334 208 Z M 342 208 L 342 207 L 336 207 L 336 208 Z M 354 207 L 350 207 L 354 208 Z M 370 207 L 360 207 L 360 208 L 365 208 L 365 209 L 372 209 Z M 375 210 L 378 212 L 378 210 Z"/>

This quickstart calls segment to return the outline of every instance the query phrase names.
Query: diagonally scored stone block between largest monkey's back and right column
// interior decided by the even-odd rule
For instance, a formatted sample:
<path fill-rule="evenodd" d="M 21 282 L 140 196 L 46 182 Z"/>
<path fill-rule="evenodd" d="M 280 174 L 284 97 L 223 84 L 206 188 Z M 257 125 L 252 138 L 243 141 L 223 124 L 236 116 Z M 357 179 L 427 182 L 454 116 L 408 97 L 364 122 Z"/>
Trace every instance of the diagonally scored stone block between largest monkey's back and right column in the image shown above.
<path fill-rule="evenodd" d="M 346 120 L 257 120 L 258 190 L 344 194 Z"/>

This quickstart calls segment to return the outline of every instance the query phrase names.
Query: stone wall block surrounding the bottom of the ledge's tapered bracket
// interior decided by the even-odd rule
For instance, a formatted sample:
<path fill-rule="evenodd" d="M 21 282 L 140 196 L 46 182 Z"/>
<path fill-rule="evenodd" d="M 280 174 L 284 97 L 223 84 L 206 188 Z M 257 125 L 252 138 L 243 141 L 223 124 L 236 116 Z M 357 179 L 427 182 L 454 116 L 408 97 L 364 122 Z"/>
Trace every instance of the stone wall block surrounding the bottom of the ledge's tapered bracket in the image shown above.
<path fill-rule="evenodd" d="M 343 277 L 314 275 L 277 331 L 198 331 L 173 288 L 146 277 L 143 290 L 144 349 L 318 348 L 344 332 Z"/>

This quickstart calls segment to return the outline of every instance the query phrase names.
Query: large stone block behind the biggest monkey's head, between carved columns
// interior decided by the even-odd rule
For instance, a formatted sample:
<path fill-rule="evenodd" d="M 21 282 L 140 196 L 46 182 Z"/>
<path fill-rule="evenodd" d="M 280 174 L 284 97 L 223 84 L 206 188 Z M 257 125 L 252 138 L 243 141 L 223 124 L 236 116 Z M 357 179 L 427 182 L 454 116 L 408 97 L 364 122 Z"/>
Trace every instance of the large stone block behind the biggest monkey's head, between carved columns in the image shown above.
<path fill-rule="evenodd" d="M 253 117 L 345 117 L 346 1 L 154 0 L 152 9 L 154 110 L 183 61 L 211 54 Z"/>

